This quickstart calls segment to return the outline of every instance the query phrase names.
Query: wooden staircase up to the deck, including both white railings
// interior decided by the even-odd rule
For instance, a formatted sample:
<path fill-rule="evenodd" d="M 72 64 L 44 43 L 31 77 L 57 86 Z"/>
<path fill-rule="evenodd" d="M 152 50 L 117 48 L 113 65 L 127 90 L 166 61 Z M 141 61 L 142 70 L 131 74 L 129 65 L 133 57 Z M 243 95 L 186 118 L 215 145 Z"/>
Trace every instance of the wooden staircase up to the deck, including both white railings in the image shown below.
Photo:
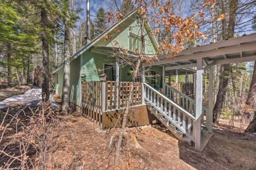
<path fill-rule="evenodd" d="M 172 92 L 170 89 L 169 91 L 165 89 L 165 95 L 163 95 L 149 86 L 149 84 L 143 83 L 143 96 L 144 101 L 148 104 L 148 109 L 179 140 L 186 141 L 190 145 L 196 142 L 202 143 L 200 148 L 202 150 L 212 136 L 201 131 L 201 124 L 196 126 L 196 122 L 199 122 L 197 120 L 204 116 L 196 119 L 194 112 L 195 101 L 178 90 Z M 196 127 L 197 134 L 195 132 Z M 198 135 L 198 129 L 200 135 Z M 199 141 L 196 138 L 199 138 Z"/>

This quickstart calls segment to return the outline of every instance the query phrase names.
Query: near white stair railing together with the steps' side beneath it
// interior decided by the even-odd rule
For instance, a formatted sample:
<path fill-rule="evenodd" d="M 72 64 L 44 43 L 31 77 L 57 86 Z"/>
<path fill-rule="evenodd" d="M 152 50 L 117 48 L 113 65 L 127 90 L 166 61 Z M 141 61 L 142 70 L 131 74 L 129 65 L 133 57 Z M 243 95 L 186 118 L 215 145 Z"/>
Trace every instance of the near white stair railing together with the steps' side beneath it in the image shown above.
<path fill-rule="evenodd" d="M 194 142 L 193 122 L 196 118 L 179 104 L 144 83 L 144 100 L 149 109 L 179 140 Z"/>

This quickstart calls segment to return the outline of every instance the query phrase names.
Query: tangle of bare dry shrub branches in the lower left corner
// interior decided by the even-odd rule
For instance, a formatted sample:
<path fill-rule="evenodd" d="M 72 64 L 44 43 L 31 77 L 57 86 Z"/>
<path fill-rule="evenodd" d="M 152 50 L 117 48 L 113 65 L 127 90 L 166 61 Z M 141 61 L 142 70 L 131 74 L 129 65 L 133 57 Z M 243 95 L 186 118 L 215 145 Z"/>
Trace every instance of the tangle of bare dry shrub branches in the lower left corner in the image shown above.
<path fill-rule="evenodd" d="M 48 169 L 54 138 L 60 134 L 59 112 L 50 103 L 1 117 L 0 169 Z"/>

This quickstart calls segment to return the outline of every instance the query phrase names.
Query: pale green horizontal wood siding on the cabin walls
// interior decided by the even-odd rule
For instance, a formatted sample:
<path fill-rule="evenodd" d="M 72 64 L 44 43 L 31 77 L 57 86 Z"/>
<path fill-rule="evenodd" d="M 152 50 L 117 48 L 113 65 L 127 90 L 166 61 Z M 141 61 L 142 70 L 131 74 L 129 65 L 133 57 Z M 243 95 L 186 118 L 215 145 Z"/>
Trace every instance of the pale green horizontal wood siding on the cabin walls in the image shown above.
<path fill-rule="evenodd" d="M 129 50 L 130 35 L 134 34 L 140 36 L 140 26 L 136 24 L 136 14 L 127 18 L 126 21 L 118 27 L 121 31 L 116 35 L 113 30 L 111 33 L 113 35 L 113 39 L 111 41 L 105 41 L 105 39 L 102 38 L 96 42 L 94 46 L 113 47 L 113 44 L 117 41 L 119 47 Z M 149 35 L 145 36 L 145 43 L 145 53 L 154 55 L 156 53 L 156 49 L 154 48 Z M 82 57 L 82 63 L 80 63 L 80 57 Z M 115 62 L 115 58 L 112 58 L 103 52 L 91 52 L 90 49 L 82 53 L 82 55 L 77 57 L 75 60 L 71 61 L 70 101 L 80 106 L 80 72 L 86 75 L 86 81 L 99 81 L 99 75 L 104 73 L 104 64 L 115 66 Z M 162 75 L 162 67 L 154 66 L 152 67 L 152 70 L 158 71 L 159 74 Z M 56 94 L 61 95 L 63 87 L 63 67 L 56 74 L 58 74 L 58 83 L 55 84 L 55 92 Z M 132 81 L 132 70 L 130 67 L 120 68 L 120 81 Z M 159 77 L 159 83 L 162 84 L 161 77 Z"/>

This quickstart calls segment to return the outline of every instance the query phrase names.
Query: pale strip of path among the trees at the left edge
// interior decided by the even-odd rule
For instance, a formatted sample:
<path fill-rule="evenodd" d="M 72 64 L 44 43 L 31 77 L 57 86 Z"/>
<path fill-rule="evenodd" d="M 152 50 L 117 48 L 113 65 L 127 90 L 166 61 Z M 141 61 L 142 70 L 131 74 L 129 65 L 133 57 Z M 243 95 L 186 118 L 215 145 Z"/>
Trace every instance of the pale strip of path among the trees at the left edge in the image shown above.
<path fill-rule="evenodd" d="M 32 89 L 27 90 L 24 94 L 14 95 L 0 101 L 0 109 L 16 106 L 34 106 L 35 104 L 38 104 L 40 100 L 41 88 L 33 87 Z"/>

